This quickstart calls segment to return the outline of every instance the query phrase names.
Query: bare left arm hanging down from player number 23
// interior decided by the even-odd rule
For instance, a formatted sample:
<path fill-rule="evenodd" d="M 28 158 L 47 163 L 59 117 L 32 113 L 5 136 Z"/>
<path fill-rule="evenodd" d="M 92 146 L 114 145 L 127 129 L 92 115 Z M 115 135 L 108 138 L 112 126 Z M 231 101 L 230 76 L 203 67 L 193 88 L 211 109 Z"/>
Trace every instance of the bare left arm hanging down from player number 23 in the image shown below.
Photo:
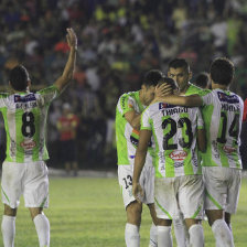
<path fill-rule="evenodd" d="M 139 139 L 136 158 L 135 158 L 132 193 L 138 202 L 140 202 L 138 194 L 143 196 L 143 191 L 139 184 L 139 179 L 140 179 L 141 171 L 144 167 L 146 155 L 147 155 L 147 151 L 148 151 L 148 144 L 151 139 L 151 135 L 152 135 L 152 132 L 150 130 L 141 130 L 140 131 L 140 139 Z"/>

